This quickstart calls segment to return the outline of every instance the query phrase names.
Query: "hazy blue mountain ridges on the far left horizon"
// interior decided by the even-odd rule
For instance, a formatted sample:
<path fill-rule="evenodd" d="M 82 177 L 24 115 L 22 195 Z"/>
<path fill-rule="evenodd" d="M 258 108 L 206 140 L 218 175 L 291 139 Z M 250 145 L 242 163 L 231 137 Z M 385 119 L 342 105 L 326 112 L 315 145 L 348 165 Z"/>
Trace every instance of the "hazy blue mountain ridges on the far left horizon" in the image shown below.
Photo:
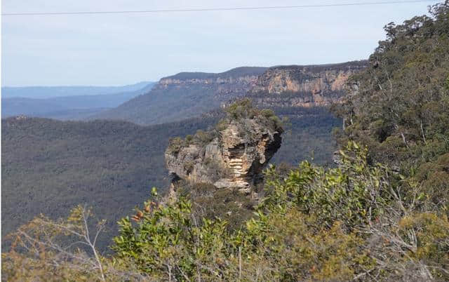
<path fill-rule="evenodd" d="M 26 115 L 60 120 L 81 120 L 147 93 L 152 86 L 154 86 L 153 82 L 141 82 L 121 87 L 2 88 L 1 116 Z M 44 92 L 50 98 L 32 98 L 41 97 Z M 6 97 L 15 95 L 22 97 L 5 98 L 5 95 Z M 53 95 L 61 96 L 53 97 Z"/>

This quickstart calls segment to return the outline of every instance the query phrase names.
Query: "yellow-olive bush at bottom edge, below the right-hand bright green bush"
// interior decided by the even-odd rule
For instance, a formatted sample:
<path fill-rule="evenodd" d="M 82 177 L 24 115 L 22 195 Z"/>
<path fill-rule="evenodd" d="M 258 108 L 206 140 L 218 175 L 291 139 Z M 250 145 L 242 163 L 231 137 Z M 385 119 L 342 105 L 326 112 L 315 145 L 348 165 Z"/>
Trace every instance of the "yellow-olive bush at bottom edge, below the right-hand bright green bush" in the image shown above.
<path fill-rule="evenodd" d="M 262 223 L 248 222 L 246 278 L 260 273 L 266 281 L 349 281 L 372 269 L 375 261 L 363 250 L 363 239 L 347 234 L 340 222 L 330 229 L 296 207 L 273 213 Z"/>

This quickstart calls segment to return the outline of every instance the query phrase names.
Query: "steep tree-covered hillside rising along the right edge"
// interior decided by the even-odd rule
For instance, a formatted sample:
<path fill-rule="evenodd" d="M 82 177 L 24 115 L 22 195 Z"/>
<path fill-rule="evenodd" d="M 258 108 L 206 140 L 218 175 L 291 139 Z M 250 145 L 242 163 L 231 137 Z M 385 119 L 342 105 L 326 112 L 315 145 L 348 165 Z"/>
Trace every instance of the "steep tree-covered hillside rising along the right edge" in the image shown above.
<path fill-rule="evenodd" d="M 387 39 L 370 67 L 348 81 L 349 95 L 335 107 L 345 123 L 341 142 L 370 147 L 370 161 L 401 173 L 422 170 L 448 150 L 449 27 L 445 8 L 385 27 Z M 427 165 L 427 167 L 429 164 Z"/>

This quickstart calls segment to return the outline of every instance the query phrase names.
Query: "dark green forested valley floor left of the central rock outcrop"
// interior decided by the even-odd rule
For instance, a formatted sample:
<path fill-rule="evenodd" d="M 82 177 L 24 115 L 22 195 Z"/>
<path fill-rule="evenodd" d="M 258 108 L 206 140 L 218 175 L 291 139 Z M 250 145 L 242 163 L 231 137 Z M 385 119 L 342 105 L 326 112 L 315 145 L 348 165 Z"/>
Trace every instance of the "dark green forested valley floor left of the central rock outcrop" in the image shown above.
<path fill-rule="evenodd" d="M 79 203 L 94 206 L 114 234 L 116 220 L 149 196 L 152 186 L 167 187 L 163 151 L 169 138 L 213 122 L 142 127 L 124 121 L 2 120 L 3 234 L 39 213 L 61 217 Z"/>

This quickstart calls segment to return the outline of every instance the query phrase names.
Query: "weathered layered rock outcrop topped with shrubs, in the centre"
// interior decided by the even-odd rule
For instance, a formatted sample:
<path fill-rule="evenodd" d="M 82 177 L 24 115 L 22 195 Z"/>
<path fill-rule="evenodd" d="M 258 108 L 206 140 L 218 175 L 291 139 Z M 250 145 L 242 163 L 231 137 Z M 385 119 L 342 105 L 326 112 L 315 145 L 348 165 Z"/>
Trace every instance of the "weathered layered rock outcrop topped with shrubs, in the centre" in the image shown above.
<path fill-rule="evenodd" d="M 175 178 L 250 192 L 281 147 L 281 132 L 258 118 L 230 121 L 215 134 L 208 133 L 208 142 L 172 142 L 166 150 L 166 166 Z"/>

